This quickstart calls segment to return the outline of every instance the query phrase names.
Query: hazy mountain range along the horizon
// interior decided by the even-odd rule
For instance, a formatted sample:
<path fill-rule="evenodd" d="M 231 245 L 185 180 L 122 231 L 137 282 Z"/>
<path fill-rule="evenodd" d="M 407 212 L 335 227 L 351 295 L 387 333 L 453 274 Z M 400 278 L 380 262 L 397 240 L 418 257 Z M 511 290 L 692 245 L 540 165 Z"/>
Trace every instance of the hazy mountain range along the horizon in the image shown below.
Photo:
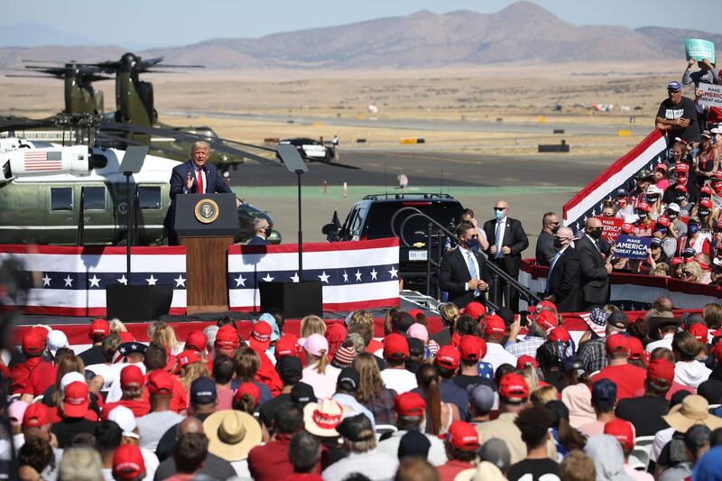
<path fill-rule="evenodd" d="M 722 44 L 722 35 L 708 32 L 573 25 L 539 5 L 521 1 L 495 14 L 421 11 L 259 39 L 219 38 L 138 53 L 211 69 L 422 69 L 509 61 L 683 61 L 683 42 L 689 37 Z M 116 59 L 122 51 L 119 47 L 5 48 L 0 49 L 0 68 L 17 67 L 18 60 L 27 57 Z"/>

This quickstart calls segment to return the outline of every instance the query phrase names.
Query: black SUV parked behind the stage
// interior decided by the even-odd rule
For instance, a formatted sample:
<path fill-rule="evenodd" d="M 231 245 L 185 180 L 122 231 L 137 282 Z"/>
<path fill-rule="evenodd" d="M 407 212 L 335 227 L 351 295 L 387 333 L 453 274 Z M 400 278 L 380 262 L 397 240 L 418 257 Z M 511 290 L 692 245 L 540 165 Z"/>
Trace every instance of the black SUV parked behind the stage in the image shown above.
<path fill-rule="evenodd" d="M 329 242 L 372 240 L 393 237 L 391 226 L 393 215 L 402 208 L 417 208 L 433 218 L 441 226 L 453 232 L 461 220 L 464 208 L 461 203 L 448 194 L 439 193 L 403 193 L 375 194 L 359 200 L 351 208 L 346 221 L 341 225 L 338 214 L 334 212 L 333 221 L 323 227 L 322 232 Z M 404 289 L 426 292 L 427 242 L 429 220 L 417 216 L 403 224 L 414 212 L 410 209 L 396 216 L 395 232 L 404 236 L 411 247 L 401 243 L 399 252 L 399 274 Z M 403 233 L 401 227 L 403 225 Z M 431 236 L 431 258 L 439 259 L 443 254 L 446 236 L 439 235 L 439 229 L 433 227 Z M 431 268 L 434 273 L 435 268 Z M 433 294 L 434 292 L 431 291 Z"/>

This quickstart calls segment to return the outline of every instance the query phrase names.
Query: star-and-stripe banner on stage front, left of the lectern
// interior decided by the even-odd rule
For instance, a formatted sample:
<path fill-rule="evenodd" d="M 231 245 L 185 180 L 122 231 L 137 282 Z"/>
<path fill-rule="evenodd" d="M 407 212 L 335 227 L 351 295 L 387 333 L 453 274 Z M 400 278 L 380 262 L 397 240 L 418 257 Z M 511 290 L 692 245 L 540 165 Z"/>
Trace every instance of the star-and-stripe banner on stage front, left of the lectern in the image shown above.
<path fill-rule="evenodd" d="M 127 284 L 125 247 L 0 245 L 0 260 L 14 259 L 34 287 L 26 314 L 105 316 L 106 286 Z M 171 314 L 186 312 L 185 247 L 133 247 L 133 285 L 173 286 Z"/>

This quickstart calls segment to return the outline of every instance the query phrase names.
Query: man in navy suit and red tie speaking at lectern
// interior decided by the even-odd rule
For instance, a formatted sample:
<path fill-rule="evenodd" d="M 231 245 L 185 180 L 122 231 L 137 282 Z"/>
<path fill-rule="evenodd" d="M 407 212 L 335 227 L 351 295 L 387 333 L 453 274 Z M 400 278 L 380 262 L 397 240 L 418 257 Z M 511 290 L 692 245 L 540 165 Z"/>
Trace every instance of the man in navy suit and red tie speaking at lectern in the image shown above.
<path fill-rule="evenodd" d="M 178 194 L 230 194 L 223 178 L 218 175 L 218 169 L 212 163 L 208 163 L 210 146 L 208 143 L 199 141 L 193 143 L 190 148 L 190 161 L 173 167 L 171 173 L 171 208 L 163 221 L 163 227 L 171 229 L 175 217 L 175 198 Z M 236 207 L 240 201 L 236 199 Z M 176 239 L 169 239 L 169 244 L 175 244 Z"/>

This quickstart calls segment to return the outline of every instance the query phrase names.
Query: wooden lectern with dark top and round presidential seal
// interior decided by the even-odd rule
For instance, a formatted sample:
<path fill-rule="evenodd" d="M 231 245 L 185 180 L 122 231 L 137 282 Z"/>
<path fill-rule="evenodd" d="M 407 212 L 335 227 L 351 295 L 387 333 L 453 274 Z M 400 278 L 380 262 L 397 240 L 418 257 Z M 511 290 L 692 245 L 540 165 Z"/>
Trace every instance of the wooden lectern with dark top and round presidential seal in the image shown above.
<path fill-rule="evenodd" d="M 183 194 L 175 198 L 173 227 L 186 248 L 186 310 L 228 310 L 228 245 L 238 233 L 234 194 Z"/>

